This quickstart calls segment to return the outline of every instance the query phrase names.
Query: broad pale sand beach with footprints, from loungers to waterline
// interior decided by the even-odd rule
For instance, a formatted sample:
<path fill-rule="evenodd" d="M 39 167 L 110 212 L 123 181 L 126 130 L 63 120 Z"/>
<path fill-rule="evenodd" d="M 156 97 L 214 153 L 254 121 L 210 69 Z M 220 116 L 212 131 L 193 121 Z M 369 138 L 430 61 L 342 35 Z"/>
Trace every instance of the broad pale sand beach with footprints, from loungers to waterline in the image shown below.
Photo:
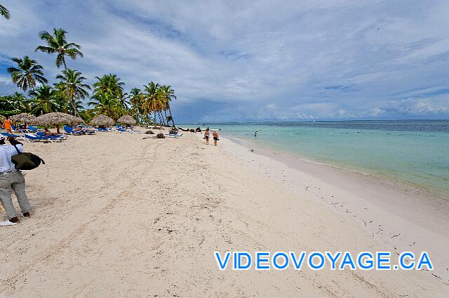
<path fill-rule="evenodd" d="M 146 137 L 25 143 L 46 164 L 25 177 L 32 217 L 0 227 L 0 297 L 448 297 L 447 201 L 227 138 Z M 427 251 L 435 270 L 220 271 L 213 255 L 363 250 Z"/>

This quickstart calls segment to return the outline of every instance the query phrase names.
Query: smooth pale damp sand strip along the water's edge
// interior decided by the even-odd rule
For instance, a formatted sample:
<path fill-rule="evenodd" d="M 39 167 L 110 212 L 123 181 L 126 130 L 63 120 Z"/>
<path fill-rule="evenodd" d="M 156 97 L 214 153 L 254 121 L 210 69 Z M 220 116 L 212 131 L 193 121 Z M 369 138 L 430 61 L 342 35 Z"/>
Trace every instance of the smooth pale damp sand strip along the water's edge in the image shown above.
<path fill-rule="evenodd" d="M 313 197 L 326 208 L 354 219 L 369 235 L 380 238 L 394 250 L 421 247 L 422 250 L 438 251 L 444 267 L 438 270 L 438 274 L 444 276 L 449 284 L 449 256 L 441 244 L 435 243 L 438 239 L 449 245 L 449 200 L 410 188 L 407 184 L 401 188 L 401 183 L 389 183 L 387 179 L 377 179 L 373 175 L 277 155 L 267 148 L 250 148 L 244 141 L 236 143 L 233 138 L 224 138 L 234 144 L 225 150 L 246 160 L 246 166 L 255 171 L 262 168 L 261 174 L 297 195 L 310 197 L 315 191 Z M 236 149 L 235 146 L 241 148 Z M 334 195 L 326 197 L 323 195 L 326 190 Z"/>

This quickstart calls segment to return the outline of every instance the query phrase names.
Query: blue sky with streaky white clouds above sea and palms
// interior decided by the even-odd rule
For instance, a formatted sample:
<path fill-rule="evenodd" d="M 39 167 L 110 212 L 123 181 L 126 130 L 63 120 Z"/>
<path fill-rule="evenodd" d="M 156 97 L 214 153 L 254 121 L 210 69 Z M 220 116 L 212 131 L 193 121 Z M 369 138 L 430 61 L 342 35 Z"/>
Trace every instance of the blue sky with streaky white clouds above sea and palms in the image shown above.
<path fill-rule="evenodd" d="M 449 1 L 0 0 L 0 96 L 42 30 L 67 30 L 88 83 L 168 84 L 177 122 L 449 119 Z"/>

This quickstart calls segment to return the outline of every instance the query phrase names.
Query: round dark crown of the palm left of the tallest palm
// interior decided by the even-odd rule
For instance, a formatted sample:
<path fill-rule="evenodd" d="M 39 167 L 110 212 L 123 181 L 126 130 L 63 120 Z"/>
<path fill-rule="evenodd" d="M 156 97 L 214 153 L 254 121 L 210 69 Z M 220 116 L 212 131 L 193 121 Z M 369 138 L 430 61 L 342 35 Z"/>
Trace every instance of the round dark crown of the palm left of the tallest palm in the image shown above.
<path fill-rule="evenodd" d="M 36 86 L 36 81 L 41 84 L 46 84 L 47 79 L 43 77 L 43 67 L 36 63 L 28 56 L 22 58 L 12 58 L 17 67 L 8 67 L 8 72 L 11 74 L 11 79 L 23 91 L 28 88 L 33 89 Z"/>

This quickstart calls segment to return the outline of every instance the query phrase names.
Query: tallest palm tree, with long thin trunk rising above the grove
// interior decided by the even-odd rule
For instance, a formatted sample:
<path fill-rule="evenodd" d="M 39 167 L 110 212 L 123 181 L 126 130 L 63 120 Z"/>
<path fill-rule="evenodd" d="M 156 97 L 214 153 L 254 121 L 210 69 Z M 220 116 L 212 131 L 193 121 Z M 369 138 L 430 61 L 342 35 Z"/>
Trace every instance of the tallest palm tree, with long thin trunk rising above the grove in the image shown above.
<path fill-rule="evenodd" d="M 42 31 L 39 33 L 39 37 L 46 41 L 47 46 L 38 46 L 34 51 L 42 51 L 44 53 L 58 53 L 56 56 L 56 66 L 59 68 L 61 65 L 64 65 L 65 78 L 66 82 L 69 81 L 67 78 L 67 63 L 65 61 L 65 56 L 69 56 L 72 59 L 76 59 L 76 56 L 83 57 L 83 53 L 79 51 L 81 46 L 79 44 L 74 44 L 73 42 L 68 43 L 65 37 L 67 31 L 64 29 L 53 29 L 53 34 L 50 34 L 46 31 Z M 67 86 L 66 91 L 69 91 L 69 87 Z M 69 94 L 67 93 L 67 98 Z M 76 106 L 72 101 L 72 108 L 74 110 L 74 115 L 79 117 L 78 110 L 76 110 Z"/>

